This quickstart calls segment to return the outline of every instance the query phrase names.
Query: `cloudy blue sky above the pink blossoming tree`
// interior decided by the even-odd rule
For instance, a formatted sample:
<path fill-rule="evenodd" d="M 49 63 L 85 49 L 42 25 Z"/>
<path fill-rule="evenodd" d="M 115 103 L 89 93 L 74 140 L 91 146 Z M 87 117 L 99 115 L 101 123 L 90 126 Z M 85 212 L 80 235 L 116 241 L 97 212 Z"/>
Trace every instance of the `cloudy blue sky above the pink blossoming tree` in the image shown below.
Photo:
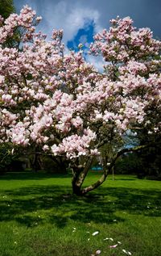
<path fill-rule="evenodd" d="M 50 38 L 53 28 L 64 29 L 64 44 L 86 47 L 93 35 L 109 27 L 109 19 L 130 16 L 135 27 L 150 27 L 161 38 L 161 0 L 14 0 L 17 12 L 25 5 L 43 17 L 39 30 Z M 93 57 L 89 57 L 93 62 Z M 97 60 L 97 65 L 101 61 Z"/>

